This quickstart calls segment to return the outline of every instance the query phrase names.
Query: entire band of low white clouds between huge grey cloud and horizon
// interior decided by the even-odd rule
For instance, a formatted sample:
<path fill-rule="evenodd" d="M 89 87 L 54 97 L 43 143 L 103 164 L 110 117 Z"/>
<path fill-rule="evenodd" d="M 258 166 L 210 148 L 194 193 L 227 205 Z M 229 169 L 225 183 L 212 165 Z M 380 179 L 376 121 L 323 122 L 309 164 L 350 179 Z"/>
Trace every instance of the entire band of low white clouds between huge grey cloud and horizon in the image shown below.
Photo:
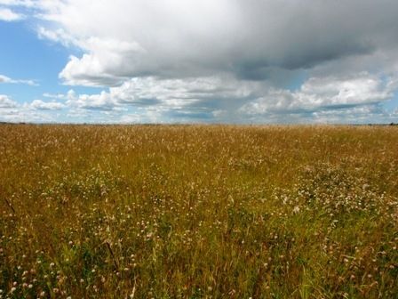
<path fill-rule="evenodd" d="M 258 81 L 242 82 L 234 77 L 167 80 L 139 77 L 111 87 L 108 92 L 77 94 L 71 90 L 56 96 L 81 112 L 136 109 L 132 114 L 123 114 L 121 122 L 140 119 L 145 122 L 281 123 L 321 122 L 328 117 L 330 122 L 333 119 L 355 122 L 355 117 L 359 121 L 365 116 L 386 117 L 381 103 L 392 94 L 387 83 L 363 72 L 352 77 L 311 77 L 297 91 L 277 89 Z M 347 117 L 349 113 L 352 117 Z"/>

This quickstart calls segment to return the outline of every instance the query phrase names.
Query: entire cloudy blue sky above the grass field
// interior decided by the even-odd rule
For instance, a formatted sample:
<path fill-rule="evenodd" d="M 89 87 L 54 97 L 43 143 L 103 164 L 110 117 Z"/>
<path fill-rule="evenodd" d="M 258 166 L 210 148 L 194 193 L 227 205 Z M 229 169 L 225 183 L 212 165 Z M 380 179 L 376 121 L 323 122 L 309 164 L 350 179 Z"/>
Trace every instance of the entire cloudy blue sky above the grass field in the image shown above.
<path fill-rule="evenodd" d="M 0 0 L 0 121 L 398 123 L 396 0 Z"/>

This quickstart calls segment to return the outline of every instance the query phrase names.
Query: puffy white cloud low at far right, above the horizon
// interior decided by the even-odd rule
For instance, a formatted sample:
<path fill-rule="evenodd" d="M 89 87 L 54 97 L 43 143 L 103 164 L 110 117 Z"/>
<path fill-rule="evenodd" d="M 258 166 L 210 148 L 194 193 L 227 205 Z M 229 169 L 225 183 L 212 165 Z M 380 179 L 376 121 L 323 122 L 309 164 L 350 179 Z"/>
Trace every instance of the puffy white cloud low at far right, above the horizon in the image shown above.
<path fill-rule="evenodd" d="M 368 73 L 353 77 L 313 77 L 297 92 L 271 89 L 241 108 L 243 113 L 261 115 L 291 111 L 343 109 L 378 104 L 393 96 L 378 77 Z"/>

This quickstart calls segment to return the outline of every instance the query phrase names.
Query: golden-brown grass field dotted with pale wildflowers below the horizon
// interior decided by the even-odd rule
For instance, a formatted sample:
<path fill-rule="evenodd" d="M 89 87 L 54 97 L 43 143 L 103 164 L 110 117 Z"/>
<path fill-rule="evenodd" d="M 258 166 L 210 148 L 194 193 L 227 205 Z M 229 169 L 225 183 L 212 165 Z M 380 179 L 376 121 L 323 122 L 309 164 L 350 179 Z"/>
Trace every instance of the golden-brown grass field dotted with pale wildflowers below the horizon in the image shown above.
<path fill-rule="evenodd" d="M 398 127 L 1 125 L 0 298 L 398 298 Z"/>

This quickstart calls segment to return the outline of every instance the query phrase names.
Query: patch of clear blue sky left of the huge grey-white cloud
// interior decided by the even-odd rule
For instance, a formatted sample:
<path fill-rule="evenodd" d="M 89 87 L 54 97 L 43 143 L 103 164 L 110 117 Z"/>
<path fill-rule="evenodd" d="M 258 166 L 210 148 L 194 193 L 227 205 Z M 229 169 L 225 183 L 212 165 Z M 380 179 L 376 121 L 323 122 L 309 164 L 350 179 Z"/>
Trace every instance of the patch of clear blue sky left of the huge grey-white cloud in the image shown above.
<path fill-rule="evenodd" d="M 0 36 L 4 41 L 0 47 L 0 56 L 4 57 L 0 61 L 0 75 L 16 81 L 33 81 L 33 84 L 20 82 L 0 85 L 0 93 L 7 94 L 21 105 L 47 98 L 47 93 L 68 93 L 71 87 L 63 85 L 58 74 L 67 64 L 69 55 L 81 54 L 79 49 L 40 38 L 35 28 L 36 23 L 30 19 L 0 21 Z M 99 91 L 98 87 L 74 86 L 73 89 L 77 93 L 88 94 Z M 54 111 L 47 113 L 54 114 Z M 68 117 L 61 116 L 60 121 L 68 122 Z"/>

